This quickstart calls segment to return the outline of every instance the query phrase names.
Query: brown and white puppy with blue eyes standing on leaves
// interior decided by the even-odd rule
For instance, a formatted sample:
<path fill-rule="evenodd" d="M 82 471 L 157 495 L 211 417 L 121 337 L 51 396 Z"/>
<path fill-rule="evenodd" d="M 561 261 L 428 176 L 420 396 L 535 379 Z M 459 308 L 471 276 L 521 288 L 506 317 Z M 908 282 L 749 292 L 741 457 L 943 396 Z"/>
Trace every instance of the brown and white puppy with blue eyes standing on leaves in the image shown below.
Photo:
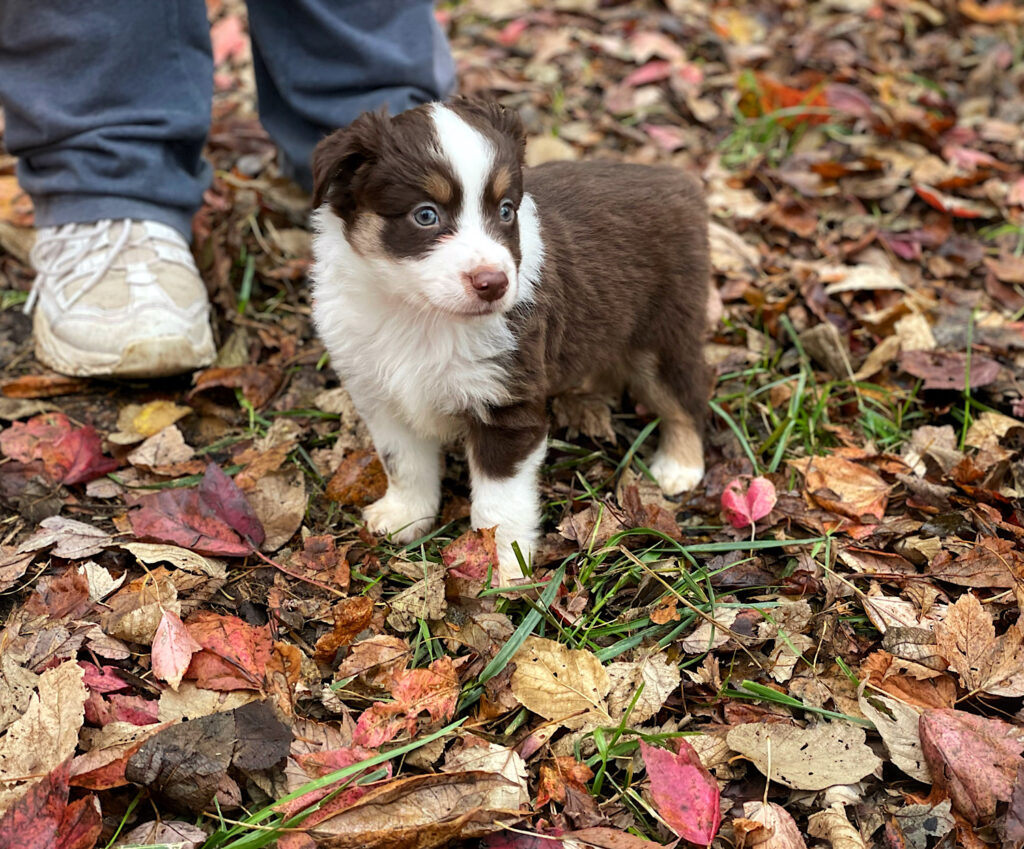
<path fill-rule="evenodd" d="M 610 162 L 523 168 L 518 117 L 456 99 L 367 114 L 313 155 L 313 319 L 388 477 L 368 526 L 411 542 L 464 437 L 501 575 L 540 533 L 546 401 L 609 378 L 660 419 L 650 470 L 703 475 L 708 222 L 696 180 Z"/>

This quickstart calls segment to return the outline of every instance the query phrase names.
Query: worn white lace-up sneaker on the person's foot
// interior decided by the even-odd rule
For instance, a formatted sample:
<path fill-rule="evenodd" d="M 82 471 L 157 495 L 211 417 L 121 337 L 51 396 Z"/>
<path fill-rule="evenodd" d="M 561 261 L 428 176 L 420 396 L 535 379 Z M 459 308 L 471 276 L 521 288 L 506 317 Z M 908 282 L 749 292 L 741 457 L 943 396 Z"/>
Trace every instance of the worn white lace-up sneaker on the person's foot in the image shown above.
<path fill-rule="evenodd" d="M 182 236 L 127 218 L 40 227 L 36 357 L 66 375 L 161 377 L 209 366 L 210 302 Z"/>

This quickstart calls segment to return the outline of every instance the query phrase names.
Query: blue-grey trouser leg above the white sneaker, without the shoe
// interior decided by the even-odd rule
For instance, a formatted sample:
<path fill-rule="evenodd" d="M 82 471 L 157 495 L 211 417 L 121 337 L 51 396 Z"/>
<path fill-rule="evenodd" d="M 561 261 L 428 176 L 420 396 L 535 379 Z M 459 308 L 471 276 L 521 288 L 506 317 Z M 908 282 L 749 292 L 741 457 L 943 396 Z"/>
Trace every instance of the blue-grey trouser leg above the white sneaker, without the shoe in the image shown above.
<path fill-rule="evenodd" d="M 202 0 L 0 3 L 4 141 L 39 226 L 135 218 L 188 238 L 212 92 Z"/>

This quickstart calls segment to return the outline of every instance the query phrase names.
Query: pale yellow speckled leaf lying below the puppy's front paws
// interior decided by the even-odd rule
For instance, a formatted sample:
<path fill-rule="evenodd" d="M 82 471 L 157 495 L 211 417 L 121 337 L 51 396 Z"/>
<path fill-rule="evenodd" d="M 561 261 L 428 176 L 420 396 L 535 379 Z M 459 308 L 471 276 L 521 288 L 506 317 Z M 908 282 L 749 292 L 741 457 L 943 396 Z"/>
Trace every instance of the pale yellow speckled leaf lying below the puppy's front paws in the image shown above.
<path fill-rule="evenodd" d="M 535 714 L 570 729 L 612 724 L 605 703 L 611 680 L 590 651 L 527 637 L 512 662 L 512 694 Z"/>

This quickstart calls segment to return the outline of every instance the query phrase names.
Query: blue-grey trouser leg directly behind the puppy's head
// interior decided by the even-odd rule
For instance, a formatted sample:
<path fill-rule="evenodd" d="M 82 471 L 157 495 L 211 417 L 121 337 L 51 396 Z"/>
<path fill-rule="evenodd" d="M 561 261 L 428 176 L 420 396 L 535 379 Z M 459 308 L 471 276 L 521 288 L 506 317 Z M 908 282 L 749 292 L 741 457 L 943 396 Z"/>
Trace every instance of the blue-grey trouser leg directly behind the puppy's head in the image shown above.
<path fill-rule="evenodd" d="M 360 113 L 451 94 L 455 65 L 430 0 L 249 0 L 260 120 L 288 176 Z"/>

